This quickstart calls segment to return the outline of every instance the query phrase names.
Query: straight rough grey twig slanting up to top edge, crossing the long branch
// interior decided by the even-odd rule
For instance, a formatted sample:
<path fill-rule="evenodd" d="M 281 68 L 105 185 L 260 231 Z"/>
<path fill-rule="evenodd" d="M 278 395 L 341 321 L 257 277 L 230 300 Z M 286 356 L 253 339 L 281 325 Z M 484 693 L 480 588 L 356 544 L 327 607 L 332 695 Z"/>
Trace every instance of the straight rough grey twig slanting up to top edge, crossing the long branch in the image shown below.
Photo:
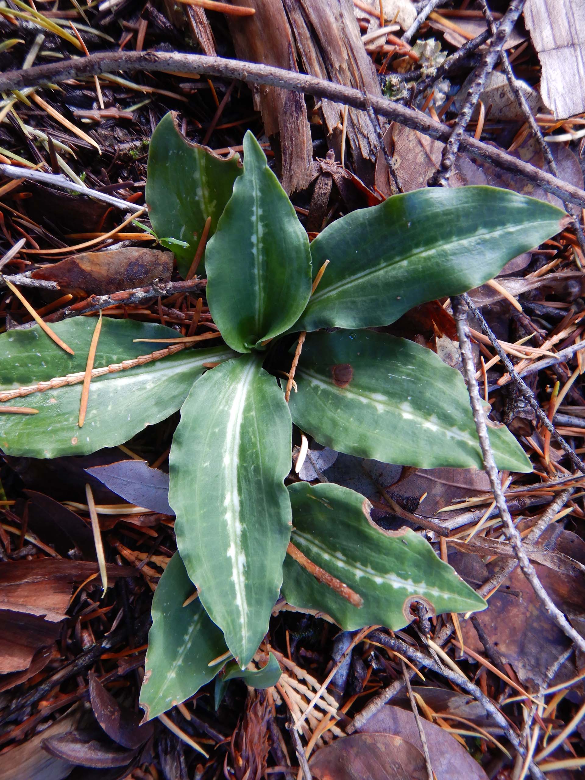
<path fill-rule="evenodd" d="M 476 70 L 469 93 L 459 111 L 459 116 L 457 117 L 455 126 L 449 136 L 449 140 L 447 141 L 447 144 L 445 144 L 441 157 L 441 165 L 439 166 L 438 171 L 431 176 L 429 183 L 432 183 L 435 186 L 441 186 L 449 179 L 452 165 L 459 152 L 463 134 L 471 119 L 473 109 L 477 105 L 477 101 L 484 89 L 489 74 L 495 68 L 496 62 L 498 62 L 505 41 L 512 32 L 512 27 L 514 27 L 522 12 L 524 2 L 526 2 L 526 0 L 512 0 L 504 16 L 502 16 L 502 21 L 498 24 L 498 30 L 496 30 L 495 35 L 491 40 L 491 45 L 488 48 L 488 51 L 485 52 L 480 62 L 480 66 Z"/>

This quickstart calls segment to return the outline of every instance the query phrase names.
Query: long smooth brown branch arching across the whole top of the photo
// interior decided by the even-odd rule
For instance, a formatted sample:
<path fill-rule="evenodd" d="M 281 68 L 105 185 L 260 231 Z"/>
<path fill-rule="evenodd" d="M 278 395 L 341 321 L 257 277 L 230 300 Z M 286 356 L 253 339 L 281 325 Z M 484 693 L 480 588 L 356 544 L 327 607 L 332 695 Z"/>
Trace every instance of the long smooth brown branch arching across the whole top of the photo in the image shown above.
<path fill-rule="evenodd" d="M 369 96 L 369 101 L 363 97 L 360 90 L 344 87 L 304 73 L 295 73 L 282 68 L 258 65 L 255 62 L 240 62 L 239 60 L 222 57 L 207 57 L 205 55 L 168 54 L 161 51 L 115 51 L 102 52 L 90 57 L 68 59 L 62 62 L 51 62 L 48 65 L 34 66 L 27 70 L 13 70 L 0 74 L 0 91 L 22 90 L 24 87 L 34 87 L 41 83 L 55 83 L 80 76 L 95 76 L 100 73 L 117 73 L 126 71 L 161 71 L 163 73 L 200 73 L 205 76 L 224 76 L 250 83 L 268 84 L 286 90 L 294 90 L 315 97 L 326 97 L 329 100 L 367 111 L 368 102 L 374 111 L 393 119 L 395 122 L 418 130 L 431 138 L 446 142 L 451 135 L 451 129 L 441 122 L 435 122 L 412 108 L 406 108 L 385 97 Z M 523 176 L 540 186 L 546 192 L 585 206 L 585 191 L 573 186 L 550 173 L 535 168 L 511 154 L 490 144 L 463 135 L 460 147 L 474 158 L 498 165 L 502 170 Z"/>

